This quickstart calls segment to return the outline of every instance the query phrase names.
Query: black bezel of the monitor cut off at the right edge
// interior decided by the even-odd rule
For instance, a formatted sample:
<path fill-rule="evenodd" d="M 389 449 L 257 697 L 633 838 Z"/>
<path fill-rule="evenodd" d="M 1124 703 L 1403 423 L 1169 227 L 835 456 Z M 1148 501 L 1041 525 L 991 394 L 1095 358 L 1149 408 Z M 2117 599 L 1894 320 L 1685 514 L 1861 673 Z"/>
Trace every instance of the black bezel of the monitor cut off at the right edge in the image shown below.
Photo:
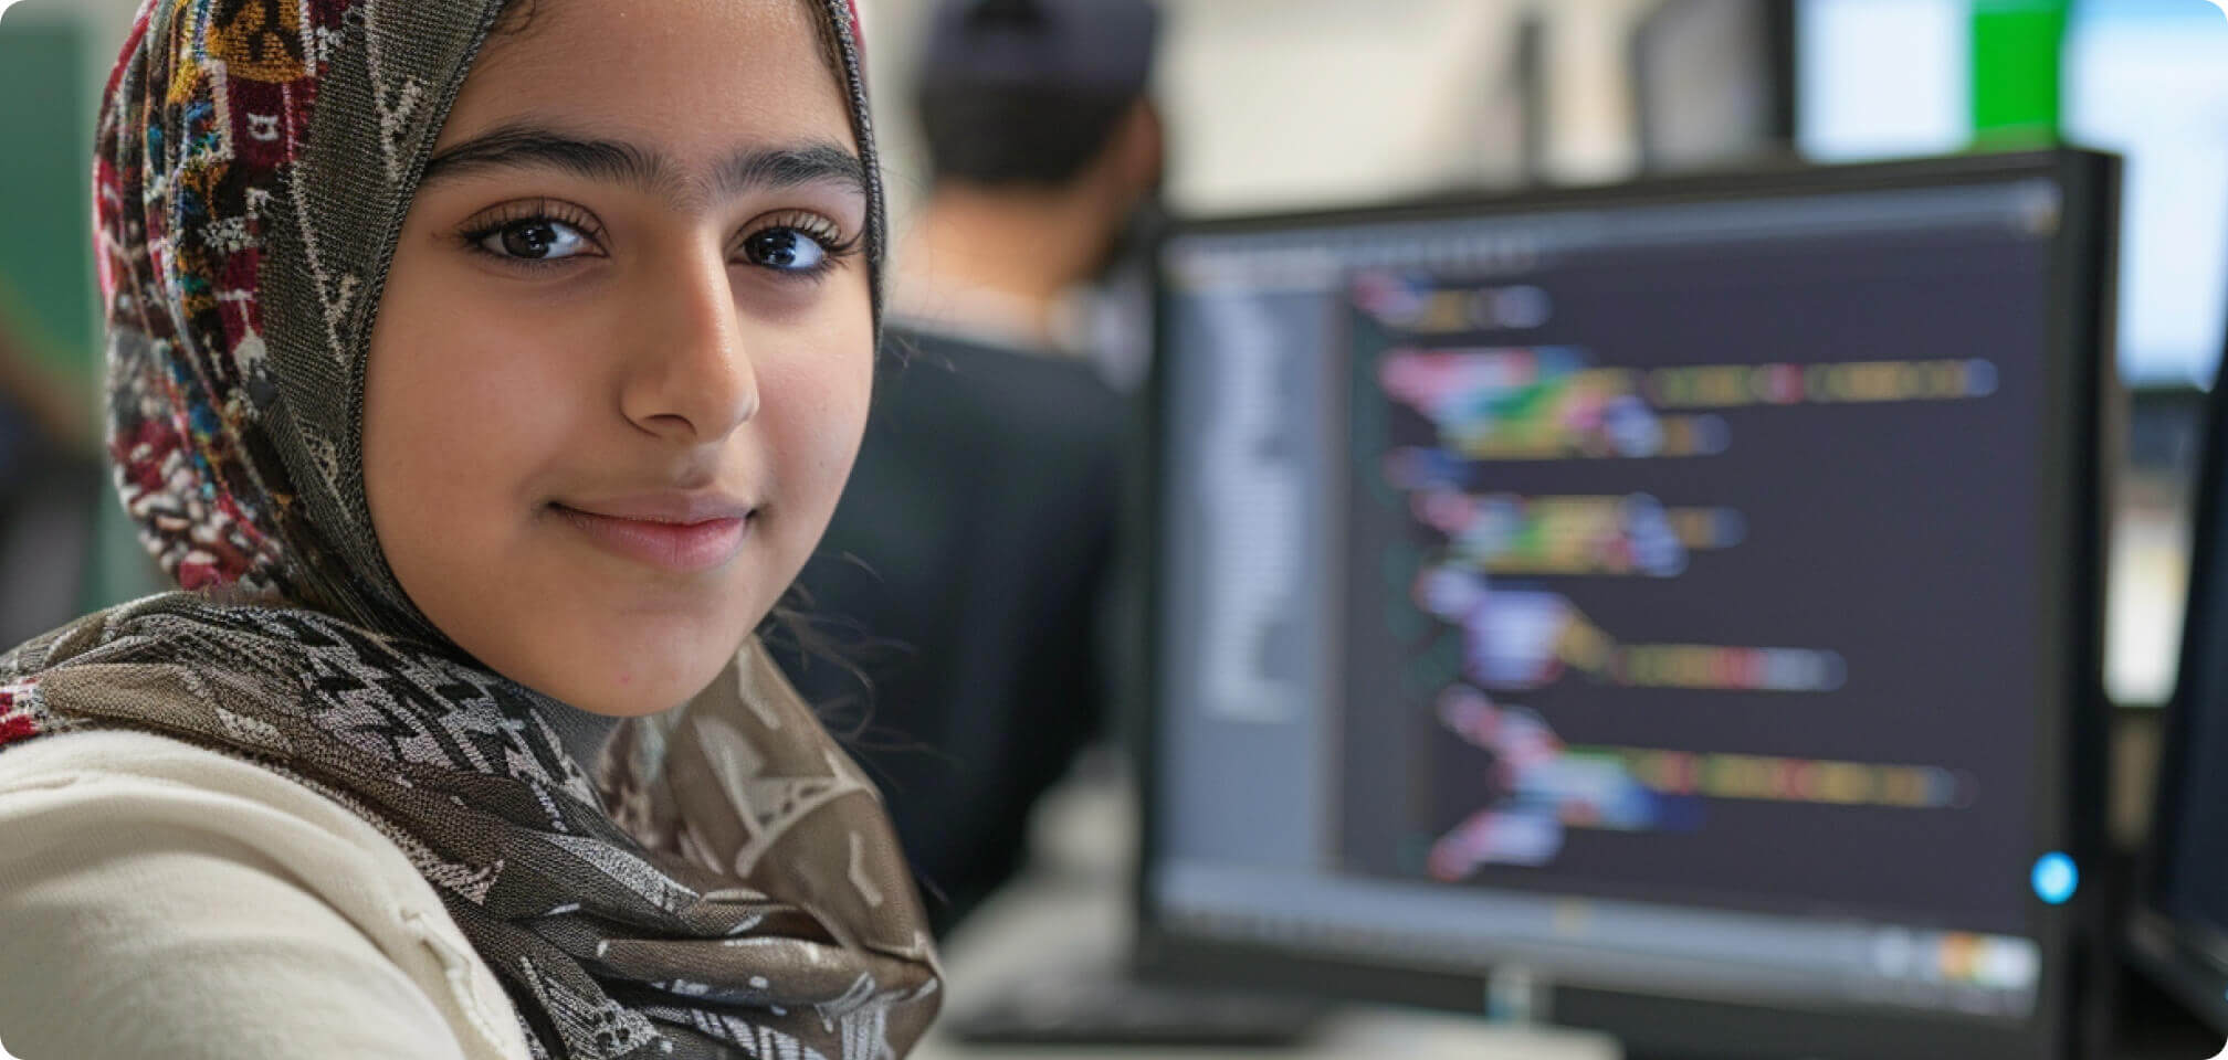
<path fill-rule="evenodd" d="M 2181 652 L 2175 673 L 2175 690 L 2166 699 L 2159 719 L 2159 766 L 2154 775 L 2150 831 L 2134 862 L 2134 880 L 2128 897 L 2126 953 L 2130 964 L 2188 1007 L 2212 1031 L 2228 1033 L 2228 964 L 2208 958 L 2206 946 L 2192 942 L 2201 935 L 2217 935 L 2203 924 L 2188 924 L 2166 911 L 2157 897 L 2166 884 L 2168 848 L 2179 826 L 2183 799 L 2179 788 L 2195 768 L 2195 744 L 2188 739 L 2195 699 L 2206 695 L 2203 681 L 2192 675 L 2206 646 L 2219 635 L 2217 610 L 2228 603 L 2212 581 L 2228 561 L 2212 543 L 2228 532 L 2228 394 L 2215 383 L 2206 396 L 2203 450 L 2197 459 L 2195 519 L 2190 528 L 2190 583 L 2183 595 Z M 2219 690 L 2210 690 L 2219 695 Z M 2221 938 L 2228 944 L 2228 938 Z"/>

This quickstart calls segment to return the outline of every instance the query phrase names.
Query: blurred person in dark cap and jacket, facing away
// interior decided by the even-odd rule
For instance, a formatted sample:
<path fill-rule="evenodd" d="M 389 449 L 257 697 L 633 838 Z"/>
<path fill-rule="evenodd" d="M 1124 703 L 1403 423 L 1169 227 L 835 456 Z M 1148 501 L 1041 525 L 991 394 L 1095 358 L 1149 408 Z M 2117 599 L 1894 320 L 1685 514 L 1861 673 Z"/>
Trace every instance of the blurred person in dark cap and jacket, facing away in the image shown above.
<path fill-rule="evenodd" d="M 1145 0 L 947 2 L 918 82 L 931 187 L 900 247 L 891 370 L 802 577 L 842 655 L 791 655 L 949 931 L 1016 873 L 1029 811 L 1105 722 L 1125 401 L 1076 307 L 1161 187 Z"/>

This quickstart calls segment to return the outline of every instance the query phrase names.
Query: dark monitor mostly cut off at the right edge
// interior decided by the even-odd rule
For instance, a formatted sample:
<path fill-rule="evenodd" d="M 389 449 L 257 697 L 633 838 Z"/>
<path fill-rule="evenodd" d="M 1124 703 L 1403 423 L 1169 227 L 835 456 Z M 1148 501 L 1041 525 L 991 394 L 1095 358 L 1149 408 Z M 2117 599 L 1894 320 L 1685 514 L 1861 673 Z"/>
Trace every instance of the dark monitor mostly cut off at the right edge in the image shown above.
<path fill-rule="evenodd" d="M 2228 390 L 2215 385 L 2206 403 L 2181 668 L 2161 719 L 2128 951 L 2159 987 L 2228 1033 Z"/>

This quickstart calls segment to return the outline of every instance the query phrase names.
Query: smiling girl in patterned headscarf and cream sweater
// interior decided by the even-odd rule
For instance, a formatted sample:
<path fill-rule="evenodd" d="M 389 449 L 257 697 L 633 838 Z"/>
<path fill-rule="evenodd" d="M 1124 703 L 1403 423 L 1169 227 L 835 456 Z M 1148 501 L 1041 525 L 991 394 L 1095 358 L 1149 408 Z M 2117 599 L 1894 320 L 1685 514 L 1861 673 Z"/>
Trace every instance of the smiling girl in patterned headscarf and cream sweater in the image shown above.
<path fill-rule="evenodd" d="M 96 180 L 189 592 L 0 661 L 0 1042 L 902 1056 L 911 880 L 753 639 L 871 390 L 847 0 L 149 0 Z"/>

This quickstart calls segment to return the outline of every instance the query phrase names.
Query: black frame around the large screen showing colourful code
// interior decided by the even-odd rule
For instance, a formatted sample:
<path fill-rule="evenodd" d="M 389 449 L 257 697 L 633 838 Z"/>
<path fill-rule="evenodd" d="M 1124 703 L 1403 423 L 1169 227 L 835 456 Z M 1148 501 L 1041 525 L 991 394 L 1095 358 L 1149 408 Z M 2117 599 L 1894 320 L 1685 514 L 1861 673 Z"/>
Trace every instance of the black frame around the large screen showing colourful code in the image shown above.
<path fill-rule="evenodd" d="M 1482 973 L 1390 969 L 1290 949 L 1232 944 L 1185 935 L 1170 924 L 1152 893 L 1161 855 L 1159 739 L 1163 690 L 1163 646 L 1150 632 L 1163 608 L 1163 510 L 1170 376 L 1167 252 L 1172 238 L 1201 234 L 1286 232 L 1361 223 L 1413 223 L 1433 218 L 1508 216 L 1537 209 L 1629 207 L 1722 200 L 1729 196 L 1805 196 L 1829 192 L 1950 187 L 2016 178 L 2054 178 L 2065 194 L 2063 223 L 2050 265 L 2052 314 L 2045 385 L 2045 421 L 2072 430 L 2048 436 L 2041 459 L 2043 499 L 2039 510 L 2039 577 L 2050 615 L 2036 659 L 2045 661 L 2043 688 L 2056 690 L 2041 706 L 2034 766 L 2034 848 L 2065 851 L 2076 864 L 2105 864 L 2105 735 L 2103 697 L 2103 541 L 2108 521 L 2108 470 L 2101 448 L 2103 421 L 2117 387 L 2114 374 L 2114 285 L 2119 223 L 2119 160 L 2081 149 L 2023 154 L 1976 154 L 1952 158 L 1867 165 L 1760 165 L 1738 174 L 1644 178 L 1611 187 L 1535 189 L 1497 196 L 1446 196 L 1359 209 L 1286 212 L 1230 218 L 1190 218 L 1170 225 L 1154 247 L 1154 365 L 1141 410 L 1139 468 L 1143 481 L 1130 506 L 1132 541 L 1139 554 L 1139 603 L 1130 637 L 1136 648 L 1136 701 L 1130 704 L 1130 737 L 1136 742 L 1141 851 L 1132 880 L 1136 973 L 1170 982 L 1212 982 L 1286 989 L 1343 1000 L 1379 1000 L 1453 1011 L 1486 1011 Z M 2056 557 L 2056 561 L 2052 561 Z M 1794 1056 L 1903 1056 L 1970 1058 L 2016 1056 L 2063 1060 L 2094 1049 L 2105 1033 L 2099 989 L 2110 969 L 2112 917 L 2101 889 L 2088 886 L 2063 906 L 2036 902 L 2036 942 L 2043 951 L 2043 987 L 2036 1015 L 2025 1024 L 2003 1024 L 1947 1013 L 1889 1009 L 1789 1011 L 1760 1004 L 1682 1000 L 1589 987 L 1551 987 L 1548 1020 L 1609 1031 L 1635 1056 L 1698 1058 L 1794 1058 Z M 2103 958 L 2101 958 L 2103 955 Z M 2101 1053 L 2099 1053 L 2101 1056 Z"/>

